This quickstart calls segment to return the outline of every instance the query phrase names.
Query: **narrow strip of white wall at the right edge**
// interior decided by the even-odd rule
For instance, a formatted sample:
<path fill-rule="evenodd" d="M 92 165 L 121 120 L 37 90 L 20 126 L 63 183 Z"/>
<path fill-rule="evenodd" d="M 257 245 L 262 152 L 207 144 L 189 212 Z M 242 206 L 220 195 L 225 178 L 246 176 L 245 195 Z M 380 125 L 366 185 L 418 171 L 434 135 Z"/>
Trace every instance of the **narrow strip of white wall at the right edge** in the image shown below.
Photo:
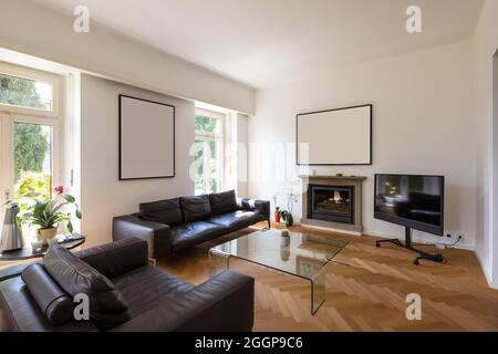
<path fill-rule="evenodd" d="M 498 1 L 483 7 L 473 40 L 476 124 L 481 126 L 479 144 L 479 237 L 476 251 L 488 282 L 498 288 L 498 116 L 492 117 L 492 56 L 498 49 Z M 495 160 L 495 163 L 494 163 Z"/>

